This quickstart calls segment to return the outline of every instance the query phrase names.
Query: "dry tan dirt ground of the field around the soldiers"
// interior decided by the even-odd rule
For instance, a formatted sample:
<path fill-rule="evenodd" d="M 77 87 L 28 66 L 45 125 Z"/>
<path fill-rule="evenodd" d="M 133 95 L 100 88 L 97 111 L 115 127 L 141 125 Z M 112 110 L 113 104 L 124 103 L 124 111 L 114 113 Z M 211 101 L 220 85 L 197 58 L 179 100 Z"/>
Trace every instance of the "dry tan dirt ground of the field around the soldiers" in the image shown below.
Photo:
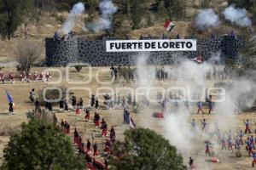
<path fill-rule="evenodd" d="M 33 68 L 32 73 L 34 71 L 44 71 L 48 68 Z M 15 71 L 15 68 L 12 68 L 11 70 Z M 104 85 L 103 81 L 107 81 L 110 79 L 109 75 L 109 68 L 93 68 L 92 69 L 92 81 L 90 84 L 84 85 L 80 84 L 70 84 L 65 81 L 65 68 L 58 68 L 59 71 L 61 71 L 61 74 L 63 75 L 61 82 L 55 84 L 55 86 L 58 87 L 66 87 L 66 88 L 90 88 L 93 92 L 96 91 L 98 88 L 103 87 L 110 87 L 110 88 L 122 88 L 122 87 L 130 87 L 130 88 L 136 88 L 136 86 L 133 86 L 131 83 L 123 84 L 119 81 L 115 81 L 110 85 Z M 5 68 L 3 72 L 6 74 L 8 73 L 9 69 Z M 99 79 L 102 81 L 102 83 L 96 82 L 96 75 L 99 75 Z M 58 80 L 58 73 L 56 71 L 50 71 L 52 74 L 52 81 L 55 82 Z M 73 80 L 80 81 L 82 79 L 88 78 L 88 69 L 84 68 L 83 71 L 80 73 L 77 73 L 73 68 L 68 71 L 70 74 L 70 77 L 72 77 Z M 161 82 L 157 82 L 159 86 L 163 86 Z M 212 82 L 209 82 L 212 83 Z M 26 113 L 28 111 L 32 111 L 33 105 L 29 101 L 29 92 L 32 88 L 36 89 L 36 94 L 39 93 L 40 90 L 49 87 L 52 85 L 48 85 L 44 82 L 30 82 L 30 83 L 21 83 L 19 80 L 15 82 L 15 84 L 0 84 L 0 162 L 3 162 L 3 148 L 6 147 L 9 141 L 9 135 L 14 133 L 14 131 L 17 131 L 19 129 L 19 125 L 21 122 L 27 122 L 26 119 Z M 9 93 L 12 95 L 14 101 L 15 101 L 15 116 L 9 116 L 8 115 L 8 102 L 6 98 L 5 91 L 8 90 Z M 89 103 L 89 94 L 85 92 L 84 90 L 77 89 L 77 90 L 71 90 L 77 98 L 81 97 L 84 99 L 84 104 L 88 105 Z M 108 90 L 102 90 L 102 92 L 106 93 Z M 100 105 L 102 105 L 102 102 L 100 102 Z M 207 108 L 204 108 L 207 110 Z M 54 106 L 54 111 L 58 117 L 58 122 L 61 122 L 61 119 L 67 120 L 71 124 L 71 132 L 73 133 L 73 128 L 78 127 L 79 133 L 83 136 L 83 141 L 85 142 L 87 139 L 91 139 L 92 133 L 94 133 L 96 139 L 95 142 L 99 145 L 100 150 L 103 148 L 103 142 L 105 141 L 104 138 L 101 137 L 101 131 L 100 129 L 97 129 L 93 122 L 84 122 L 84 112 L 80 115 L 75 115 L 74 111 L 69 111 L 67 113 L 58 111 L 58 105 Z M 93 116 L 93 113 L 96 110 L 90 111 L 91 116 Z M 149 109 L 144 109 L 140 111 L 139 113 L 134 113 L 131 111 L 131 116 L 137 123 L 137 127 L 149 127 L 151 129 L 154 129 L 157 133 L 164 133 L 164 127 L 163 119 L 157 119 L 152 116 L 154 111 L 160 111 L 158 106 L 150 105 Z M 210 116 L 208 115 L 197 115 L 195 114 L 196 108 L 192 107 L 189 109 L 191 112 L 191 115 L 189 116 L 188 120 L 184 120 L 186 122 L 190 122 L 192 118 L 195 118 L 195 122 L 200 122 L 203 118 L 207 119 L 207 122 L 213 122 L 215 119 L 214 113 Z M 125 129 L 129 129 L 128 126 L 123 124 L 123 111 L 122 110 L 99 110 L 101 117 L 104 117 L 106 122 L 108 123 L 108 128 L 113 126 L 116 131 L 117 139 L 122 140 L 124 138 L 123 132 Z M 232 127 L 233 132 L 237 132 L 239 129 L 244 129 L 243 122 L 246 119 L 250 119 L 251 122 L 256 122 L 256 116 L 254 116 L 255 112 L 249 112 L 249 113 L 242 113 L 241 115 L 223 115 L 223 118 L 226 123 L 229 123 Z M 233 120 L 236 119 L 237 123 L 234 123 Z M 254 129 L 256 126 L 253 124 L 252 129 Z M 255 136 L 255 135 L 254 135 Z M 71 136 L 72 137 L 72 136 Z M 188 153 L 183 153 L 183 159 L 184 163 L 188 164 L 189 156 L 192 156 L 195 158 L 195 169 L 216 169 L 216 170 L 222 170 L 222 169 L 250 169 L 252 168 L 251 162 L 252 158 L 247 156 L 247 152 L 245 150 L 245 145 L 241 146 L 242 150 L 242 156 L 241 158 L 236 158 L 235 153 L 231 153 L 228 150 L 220 150 L 218 153 L 216 153 L 216 156 L 221 161 L 219 163 L 212 163 L 209 161 L 211 158 L 210 156 L 205 156 L 205 144 L 204 141 L 201 139 L 201 136 L 198 136 L 195 138 L 194 141 L 192 141 L 193 150 L 190 150 Z"/>

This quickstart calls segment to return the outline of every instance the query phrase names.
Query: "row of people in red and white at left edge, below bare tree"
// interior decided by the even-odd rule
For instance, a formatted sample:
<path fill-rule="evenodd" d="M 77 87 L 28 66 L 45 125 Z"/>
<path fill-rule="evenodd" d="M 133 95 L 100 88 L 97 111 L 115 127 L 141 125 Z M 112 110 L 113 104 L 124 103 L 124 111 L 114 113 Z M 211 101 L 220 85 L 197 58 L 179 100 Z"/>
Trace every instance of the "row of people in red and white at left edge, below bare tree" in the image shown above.
<path fill-rule="evenodd" d="M 33 75 L 31 73 L 26 73 L 26 71 L 20 72 L 20 82 L 49 82 L 50 78 L 51 76 L 49 72 L 46 74 L 44 74 L 44 72 L 38 74 L 38 71 L 35 71 Z M 4 76 L 2 71 L 0 71 L 0 82 L 5 83 L 8 81 L 15 83 L 15 74 L 13 71 L 9 71 L 8 78 Z"/>

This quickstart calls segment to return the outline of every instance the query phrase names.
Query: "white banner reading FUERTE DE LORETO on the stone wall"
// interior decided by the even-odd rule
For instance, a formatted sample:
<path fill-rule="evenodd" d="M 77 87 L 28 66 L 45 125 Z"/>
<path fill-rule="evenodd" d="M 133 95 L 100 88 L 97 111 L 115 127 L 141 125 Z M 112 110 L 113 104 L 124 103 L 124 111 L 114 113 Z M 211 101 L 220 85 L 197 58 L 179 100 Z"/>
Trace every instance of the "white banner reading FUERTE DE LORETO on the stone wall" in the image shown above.
<path fill-rule="evenodd" d="M 196 51 L 196 40 L 111 40 L 106 41 L 106 50 L 107 52 Z"/>

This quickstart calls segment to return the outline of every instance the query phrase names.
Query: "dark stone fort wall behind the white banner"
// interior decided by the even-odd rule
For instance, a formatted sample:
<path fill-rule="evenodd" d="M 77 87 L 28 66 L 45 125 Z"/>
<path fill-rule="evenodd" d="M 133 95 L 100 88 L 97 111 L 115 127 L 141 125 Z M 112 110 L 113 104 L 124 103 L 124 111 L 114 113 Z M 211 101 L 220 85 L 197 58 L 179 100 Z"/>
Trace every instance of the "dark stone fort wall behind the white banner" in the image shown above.
<path fill-rule="evenodd" d="M 189 38 L 189 37 L 188 37 Z M 65 66 L 69 63 L 83 62 L 92 66 L 135 65 L 142 52 L 107 53 L 104 40 L 89 41 L 84 37 L 70 37 L 67 40 L 45 39 L 46 64 Z M 236 59 L 241 48 L 241 37 L 222 36 L 197 39 L 195 52 L 150 52 L 148 64 L 168 65 L 177 57 L 195 58 L 198 54 L 208 59 L 220 52 L 221 59 Z"/>

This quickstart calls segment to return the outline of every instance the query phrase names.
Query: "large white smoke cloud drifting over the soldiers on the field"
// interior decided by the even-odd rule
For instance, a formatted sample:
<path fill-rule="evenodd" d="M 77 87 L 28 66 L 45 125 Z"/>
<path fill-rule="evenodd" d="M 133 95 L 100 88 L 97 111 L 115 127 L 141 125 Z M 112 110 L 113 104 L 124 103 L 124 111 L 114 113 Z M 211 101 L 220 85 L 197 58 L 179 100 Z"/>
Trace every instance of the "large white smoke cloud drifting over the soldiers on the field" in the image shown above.
<path fill-rule="evenodd" d="M 151 117 L 143 116 L 142 126 L 152 129 L 160 126 L 161 133 L 166 139 L 169 139 L 171 144 L 177 147 L 183 157 L 191 156 L 191 154 L 196 155 L 198 169 L 211 169 L 206 162 L 205 156 L 200 155 L 203 150 L 199 148 L 205 146 L 205 141 L 209 141 L 211 150 L 216 156 L 219 156 L 218 153 L 221 149 L 219 148 L 216 129 L 218 128 L 221 134 L 226 134 L 229 130 L 236 129 L 234 127 L 237 127 L 239 123 L 236 111 L 251 107 L 256 99 L 255 82 L 248 80 L 246 77 L 231 77 L 229 81 L 214 78 L 214 82 L 212 79 L 207 78 L 209 72 L 211 72 L 211 77 L 214 77 L 214 67 L 217 71 L 224 71 L 224 65 L 216 65 L 216 63 L 220 62 L 220 53 L 217 53 L 212 54 L 211 58 L 201 65 L 198 65 L 195 61 L 184 59 L 185 57 L 183 56 L 178 56 L 177 64 L 165 65 L 164 67 L 171 81 L 154 84 L 150 82 L 154 79 L 156 71 L 155 67 L 147 65 L 148 54 L 138 55 L 137 57 L 138 87 L 177 89 L 177 92 L 175 90 L 171 91 L 171 95 L 175 96 L 173 100 L 170 98 L 169 91 L 163 94 L 164 98 L 168 99 L 166 110 L 164 111 L 165 118 L 153 122 Z M 231 72 L 229 73 L 231 74 Z M 218 84 L 224 84 L 224 86 Z M 189 90 L 185 93 L 179 93 L 178 88 Z M 208 96 L 205 89 L 208 88 L 224 88 L 224 99 L 222 101 L 213 101 L 212 116 L 195 116 L 194 114 L 197 111 L 196 102 L 200 100 L 202 102 L 206 101 L 205 99 Z M 216 94 L 212 94 L 213 100 L 217 99 L 218 95 L 221 94 L 215 91 L 214 93 Z M 155 96 L 155 94 L 151 95 Z M 185 101 L 188 101 L 189 106 L 184 105 Z M 150 108 L 154 111 L 160 111 L 159 106 L 150 105 Z M 208 112 L 208 110 L 205 110 L 205 112 Z M 190 124 L 192 117 L 195 118 L 195 129 Z M 200 118 L 198 119 L 197 117 Z M 205 130 L 202 130 L 201 121 L 203 118 L 206 118 L 207 122 Z M 236 131 L 232 130 L 232 133 L 235 135 Z"/>

